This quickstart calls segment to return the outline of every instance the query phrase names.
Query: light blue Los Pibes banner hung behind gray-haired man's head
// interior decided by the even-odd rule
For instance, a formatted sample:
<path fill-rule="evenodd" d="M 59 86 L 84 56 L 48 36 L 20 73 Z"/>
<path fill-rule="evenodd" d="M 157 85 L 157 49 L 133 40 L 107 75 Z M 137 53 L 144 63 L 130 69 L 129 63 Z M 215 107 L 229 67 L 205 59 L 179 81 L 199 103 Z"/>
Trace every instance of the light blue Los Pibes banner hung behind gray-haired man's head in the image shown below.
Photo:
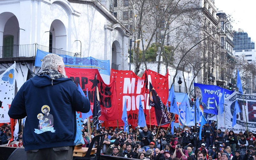
<path fill-rule="evenodd" d="M 41 50 L 36 51 L 36 61 L 35 66 L 41 67 L 42 60 L 44 56 L 49 54 L 49 52 L 44 52 Z M 63 57 L 63 62 L 65 67 L 69 68 L 95 68 L 98 69 L 101 74 L 110 76 L 110 64 L 109 60 L 98 60 L 93 57 L 72 57 L 63 54 L 57 54 L 60 57 Z"/>

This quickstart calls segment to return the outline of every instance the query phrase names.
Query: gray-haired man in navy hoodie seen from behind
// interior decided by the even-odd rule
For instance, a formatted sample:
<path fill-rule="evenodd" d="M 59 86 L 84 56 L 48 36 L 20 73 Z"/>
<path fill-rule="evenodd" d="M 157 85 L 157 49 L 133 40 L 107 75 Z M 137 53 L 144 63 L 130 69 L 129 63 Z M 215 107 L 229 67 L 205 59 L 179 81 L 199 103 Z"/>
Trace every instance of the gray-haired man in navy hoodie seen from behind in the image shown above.
<path fill-rule="evenodd" d="M 45 55 L 41 68 L 40 73 L 20 87 L 8 115 L 13 119 L 27 116 L 27 127 L 23 130 L 27 159 L 72 159 L 76 111 L 87 113 L 90 101 L 79 92 L 72 79 L 66 78 L 62 57 Z M 38 151 L 31 151 L 35 149 Z"/>

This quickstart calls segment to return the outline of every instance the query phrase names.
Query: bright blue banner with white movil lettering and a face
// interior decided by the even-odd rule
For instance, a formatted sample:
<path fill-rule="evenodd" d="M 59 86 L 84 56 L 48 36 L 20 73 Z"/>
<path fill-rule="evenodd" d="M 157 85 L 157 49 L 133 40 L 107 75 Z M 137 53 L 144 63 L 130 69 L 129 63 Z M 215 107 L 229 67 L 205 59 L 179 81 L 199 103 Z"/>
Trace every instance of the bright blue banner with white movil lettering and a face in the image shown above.
<path fill-rule="evenodd" d="M 216 85 L 194 83 L 194 92 L 196 94 L 196 98 L 199 99 L 200 106 L 203 106 L 204 108 L 204 113 L 218 115 L 220 93 L 222 93 L 223 90 L 225 93 L 225 97 L 228 97 L 234 92 Z"/>

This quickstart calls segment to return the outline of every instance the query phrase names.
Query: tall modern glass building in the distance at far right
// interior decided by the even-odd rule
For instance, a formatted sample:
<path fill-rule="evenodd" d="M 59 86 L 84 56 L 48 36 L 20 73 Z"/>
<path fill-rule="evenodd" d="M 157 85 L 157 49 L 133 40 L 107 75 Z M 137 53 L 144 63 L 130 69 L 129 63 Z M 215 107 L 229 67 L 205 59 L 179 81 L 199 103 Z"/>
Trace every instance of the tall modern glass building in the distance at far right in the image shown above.
<path fill-rule="evenodd" d="M 235 56 L 244 55 L 249 63 L 252 60 L 256 60 L 255 43 L 243 29 L 238 29 L 238 32 L 234 33 L 234 44 Z"/>

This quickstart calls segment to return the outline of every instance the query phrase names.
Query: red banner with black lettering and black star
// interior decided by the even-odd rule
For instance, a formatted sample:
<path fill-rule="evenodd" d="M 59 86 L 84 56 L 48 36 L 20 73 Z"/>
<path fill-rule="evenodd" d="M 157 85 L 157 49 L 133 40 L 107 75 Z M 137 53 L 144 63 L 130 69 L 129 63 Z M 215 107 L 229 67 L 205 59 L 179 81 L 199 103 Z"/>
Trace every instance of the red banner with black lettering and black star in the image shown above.
<path fill-rule="evenodd" d="M 85 94 L 88 88 L 91 110 L 93 110 L 94 104 L 95 85 L 98 85 L 101 111 L 99 120 L 113 121 L 118 119 L 115 81 L 110 84 L 105 84 L 97 69 L 65 68 L 65 71 L 66 75 L 71 78 L 76 85 L 80 84 Z M 97 75 L 97 79 L 95 74 Z"/>

